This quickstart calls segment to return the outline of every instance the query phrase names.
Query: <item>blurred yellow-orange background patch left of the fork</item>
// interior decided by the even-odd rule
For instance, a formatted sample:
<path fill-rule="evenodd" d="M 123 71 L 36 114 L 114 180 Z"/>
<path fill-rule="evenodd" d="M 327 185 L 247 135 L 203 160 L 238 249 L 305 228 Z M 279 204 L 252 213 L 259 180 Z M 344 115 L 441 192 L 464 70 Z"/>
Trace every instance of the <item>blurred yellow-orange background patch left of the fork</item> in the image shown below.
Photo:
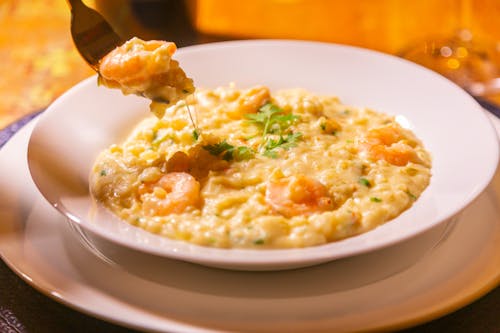
<path fill-rule="evenodd" d="M 0 0 L 0 128 L 92 74 L 73 48 L 65 1 Z"/>

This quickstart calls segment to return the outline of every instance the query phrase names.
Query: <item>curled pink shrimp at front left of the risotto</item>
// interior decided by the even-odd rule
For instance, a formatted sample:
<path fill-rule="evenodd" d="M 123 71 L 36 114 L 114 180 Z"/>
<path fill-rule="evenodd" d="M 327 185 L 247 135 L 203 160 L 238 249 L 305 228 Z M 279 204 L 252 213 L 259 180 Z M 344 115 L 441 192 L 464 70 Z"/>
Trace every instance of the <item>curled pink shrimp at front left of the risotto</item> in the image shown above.
<path fill-rule="evenodd" d="M 146 215 L 180 214 L 200 202 L 200 183 L 189 173 L 170 172 L 154 183 L 139 187 L 142 208 Z"/>

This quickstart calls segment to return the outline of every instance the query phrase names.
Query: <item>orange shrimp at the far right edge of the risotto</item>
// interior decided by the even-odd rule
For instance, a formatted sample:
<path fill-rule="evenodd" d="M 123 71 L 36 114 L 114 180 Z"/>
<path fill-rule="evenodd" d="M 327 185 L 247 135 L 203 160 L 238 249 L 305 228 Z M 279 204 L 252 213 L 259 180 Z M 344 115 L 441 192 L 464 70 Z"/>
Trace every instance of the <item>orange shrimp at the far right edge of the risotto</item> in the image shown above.
<path fill-rule="evenodd" d="M 411 142 L 401 129 L 391 125 L 368 131 L 361 140 L 361 149 L 373 160 L 385 160 L 396 166 L 404 166 L 409 162 L 419 163 L 420 159 L 408 143 Z"/>

